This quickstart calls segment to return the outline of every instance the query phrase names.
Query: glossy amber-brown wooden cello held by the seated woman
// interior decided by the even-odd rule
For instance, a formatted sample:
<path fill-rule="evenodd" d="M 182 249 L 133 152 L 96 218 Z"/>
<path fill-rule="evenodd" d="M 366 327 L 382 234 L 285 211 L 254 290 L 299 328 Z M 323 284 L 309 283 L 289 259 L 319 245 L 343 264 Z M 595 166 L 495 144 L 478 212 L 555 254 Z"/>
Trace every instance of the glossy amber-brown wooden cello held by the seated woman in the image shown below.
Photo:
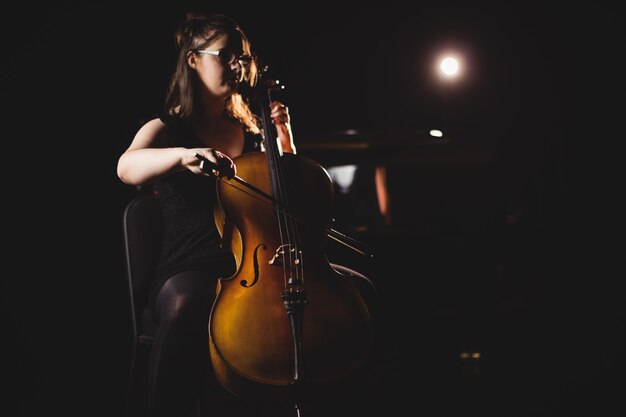
<path fill-rule="evenodd" d="M 223 240 L 237 272 L 222 278 L 209 320 L 218 381 L 242 398 L 291 398 L 341 381 L 370 354 L 368 308 L 350 277 L 329 263 L 332 181 L 316 162 L 282 154 L 269 117 L 274 81 L 256 98 L 265 152 L 235 158 L 235 179 L 218 181 Z M 250 191 L 250 190 L 254 191 Z"/>

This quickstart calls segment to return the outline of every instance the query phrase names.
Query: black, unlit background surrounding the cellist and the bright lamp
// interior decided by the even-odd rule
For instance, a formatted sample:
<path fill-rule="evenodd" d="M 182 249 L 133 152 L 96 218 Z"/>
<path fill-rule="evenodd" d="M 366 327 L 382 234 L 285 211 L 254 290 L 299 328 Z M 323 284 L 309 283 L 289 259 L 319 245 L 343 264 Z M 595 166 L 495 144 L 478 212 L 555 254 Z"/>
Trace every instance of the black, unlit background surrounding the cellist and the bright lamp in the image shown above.
<path fill-rule="evenodd" d="M 299 152 L 360 167 L 337 226 L 375 256 L 329 256 L 381 292 L 381 404 L 623 413 L 625 26 L 610 3 L 3 6 L 3 415 L 121 414 L 121 215 L 136 190 L 115 167 L 160 110 L 174 27 L 198 4 L 235 18 L 287 86 Z M 431 62 L 451 44 L 468 72 L 449 88 Z M 437 125 L 440 143 L 423 133 Z M 341 146 L 353 142 L 370 148 Z M 389 174 L 387 226 L 376 165 Z"/>

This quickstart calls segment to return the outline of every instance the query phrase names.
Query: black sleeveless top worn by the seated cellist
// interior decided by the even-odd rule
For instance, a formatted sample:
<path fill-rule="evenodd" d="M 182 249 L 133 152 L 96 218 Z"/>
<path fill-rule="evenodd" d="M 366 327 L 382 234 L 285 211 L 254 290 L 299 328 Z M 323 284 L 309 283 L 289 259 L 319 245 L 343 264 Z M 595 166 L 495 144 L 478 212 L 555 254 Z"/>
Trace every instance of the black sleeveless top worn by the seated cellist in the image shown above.
<path fill-rule="evenodd" d="M 184 125 L 171 117 L 161 117 L 176 143 L 171 146 L 205 147 Z M 261 151 L 262 136 L 245 133 L 243 153 Z M 154 183 L 164 219 L 163 247 L 152 288 L 150 306 L 165 281 L 183 271 L 206 271 L 207 279 L 229 277 L 235 259 L 221 246 L 213 209 L 217 202 L 216 179 L 184 170 Z M 153 310 L 154 311 L 154 310 Z"/>

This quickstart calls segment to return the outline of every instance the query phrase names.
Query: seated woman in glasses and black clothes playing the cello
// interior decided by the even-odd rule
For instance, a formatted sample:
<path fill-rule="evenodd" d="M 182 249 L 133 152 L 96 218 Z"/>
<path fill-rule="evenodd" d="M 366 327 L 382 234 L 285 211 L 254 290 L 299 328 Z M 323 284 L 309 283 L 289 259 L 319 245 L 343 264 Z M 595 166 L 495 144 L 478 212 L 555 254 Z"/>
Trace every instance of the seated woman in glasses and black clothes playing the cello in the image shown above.
<path fill-rule="evenodd" d="M 239 89 L 257 69 L 251 45 L 230 18 L 189 13 L 176 31 L 178 62 L 164 114 L 145 123 L 117 165 L 126 184 L 153 185 L 165 242 L 150 308 L 158 324 L 149 368 L 149 415 L 185 416 L 209 358 L 207 320 L 218 277 L 234 273 L 211 216 L 215 176 L 232 177 L 233 159 L 261 150 L 257 119 Z M 295 152 L 287 107 L 271 103 L 283 152 Z M 216 169 L 202 166 L 202 158 Z M 210 278 L 210 279 L 207 279 Z"/>

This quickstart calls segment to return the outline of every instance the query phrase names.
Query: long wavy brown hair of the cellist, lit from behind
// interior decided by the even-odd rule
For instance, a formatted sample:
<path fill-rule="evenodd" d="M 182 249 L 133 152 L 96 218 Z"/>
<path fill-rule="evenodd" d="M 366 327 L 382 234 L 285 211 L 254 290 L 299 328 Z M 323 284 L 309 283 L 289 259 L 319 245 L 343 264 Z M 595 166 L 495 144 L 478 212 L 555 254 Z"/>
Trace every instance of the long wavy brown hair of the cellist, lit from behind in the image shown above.
<path fill-rule="evenodd" d="M 231 18 L 218 14 L 189 12 L 176 30 L 178 60 L 176 70 L 172 74 L 165 97 L 164 111 L 183 122 L 193 122 L 200 112 L 197 94 L 198 75 L 187 65 L 189 51 L 199 49 L 223 35 L 230 39 L 239 39 L 242 52 L 252 55 L 250 41 Z M 253 87 L 257 82 L 258 69 L 255 60 L 246 68 L 242 83 Z M 239 123 L 244 130 L 260 133 L 257 117 L 252 113 L 245 97 L 240 92 L 233 93 L 226 100 L 224 109 L 226 116 Z"/>

